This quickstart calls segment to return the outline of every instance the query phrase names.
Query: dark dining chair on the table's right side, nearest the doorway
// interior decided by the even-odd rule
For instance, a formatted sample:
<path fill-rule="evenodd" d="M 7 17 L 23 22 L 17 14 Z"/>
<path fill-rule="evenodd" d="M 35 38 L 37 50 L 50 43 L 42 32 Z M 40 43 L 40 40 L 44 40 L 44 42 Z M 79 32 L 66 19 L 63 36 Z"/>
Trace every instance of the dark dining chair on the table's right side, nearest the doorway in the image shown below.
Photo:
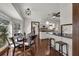
<path fill-rule="evenodd" d="M 30 42 L 25 42 L 24 40 L 23 40 L 23 45 L 24 45 L 24 52 L 25 53 L 28 53 L 29 51 L 30 51 L 30 55 L 34 55 L 32 52 L 32 49 L 33 48 L 35 48 L 35 47 L 33 47 L 33 45 L 35 45 L 35 38 L 36 38 L 36 35 L 34 35 L 34 36 L 30 36 Z"/>

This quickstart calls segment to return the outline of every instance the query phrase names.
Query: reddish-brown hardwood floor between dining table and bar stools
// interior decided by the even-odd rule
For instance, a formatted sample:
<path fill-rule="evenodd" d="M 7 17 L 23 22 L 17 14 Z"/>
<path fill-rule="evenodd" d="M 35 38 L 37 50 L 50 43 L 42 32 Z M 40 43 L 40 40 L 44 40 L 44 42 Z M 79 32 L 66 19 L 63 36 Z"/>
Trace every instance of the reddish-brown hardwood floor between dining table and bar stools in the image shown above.
<path fill-rule="evenodd" d="M 48 40 L 42 40 L 41 44 L 39 45 L 38 52 L 35 48 L 30 49 L 27 52 L 27 48 L 25 50 L 25 56 L 62 56 L 58 51 L 54 48 L 49 48 Z M 33 46 L 34 47 L 34 46 Z M 7 54 L 4 53 L 2 56 L 6 56 Z M 16 56 L 23 56 L 23 48 L 16 49 Z M 9 56 L 12 56 L 12 48 L 9 50 Z"/>

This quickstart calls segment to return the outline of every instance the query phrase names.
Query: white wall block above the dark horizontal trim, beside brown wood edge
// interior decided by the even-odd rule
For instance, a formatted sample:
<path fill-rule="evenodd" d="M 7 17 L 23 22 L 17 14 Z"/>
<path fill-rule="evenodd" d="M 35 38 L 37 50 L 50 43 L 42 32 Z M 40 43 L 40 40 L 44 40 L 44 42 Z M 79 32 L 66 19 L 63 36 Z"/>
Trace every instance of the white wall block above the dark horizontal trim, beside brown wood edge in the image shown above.
<path fill-rule="evenodd" d="M 72 23 L 72 4 L 60 4 L 60 25 Z"/>

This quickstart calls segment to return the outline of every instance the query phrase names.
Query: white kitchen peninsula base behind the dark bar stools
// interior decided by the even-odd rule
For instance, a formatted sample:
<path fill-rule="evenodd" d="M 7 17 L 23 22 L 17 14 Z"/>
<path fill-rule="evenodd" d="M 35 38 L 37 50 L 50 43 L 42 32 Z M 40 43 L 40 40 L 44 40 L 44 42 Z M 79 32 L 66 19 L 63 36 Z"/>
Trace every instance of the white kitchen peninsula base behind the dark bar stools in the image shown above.
<path fill-rule="evenodd" d="M 72 38 L 63 37 L 63 36 L 54 35 L 54 34 L 48 34 L 47 32 L 40 32 L 40 39 L 45 39 L 45 38 L 54 38 L 55 41 L 63 41 L 65 43 L 67 43 L 69 46 L 68 54 L 69 54 L 69 56 L 72 56 Z M 64 48 L 63 50 L 65 52 L 65 47 L 63 47 L 63 48 Z M 58 50 L 58 45 L 56 45 L 56 50 Z"/>

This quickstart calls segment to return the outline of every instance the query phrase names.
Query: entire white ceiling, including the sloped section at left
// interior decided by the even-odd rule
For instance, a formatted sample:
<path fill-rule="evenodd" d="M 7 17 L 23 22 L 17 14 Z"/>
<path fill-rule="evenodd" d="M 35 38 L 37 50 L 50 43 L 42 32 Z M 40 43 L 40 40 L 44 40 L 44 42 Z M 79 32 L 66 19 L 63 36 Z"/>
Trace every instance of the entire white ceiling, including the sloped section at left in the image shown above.
<path fill-rule="evenodd" d="M 25 10 L 31 9 L 31 17 L 46 19 L 50 13 L 60 11 L 59 3 L 0 3 L 0 12 L 14 19 L 26 19 Z"/>

